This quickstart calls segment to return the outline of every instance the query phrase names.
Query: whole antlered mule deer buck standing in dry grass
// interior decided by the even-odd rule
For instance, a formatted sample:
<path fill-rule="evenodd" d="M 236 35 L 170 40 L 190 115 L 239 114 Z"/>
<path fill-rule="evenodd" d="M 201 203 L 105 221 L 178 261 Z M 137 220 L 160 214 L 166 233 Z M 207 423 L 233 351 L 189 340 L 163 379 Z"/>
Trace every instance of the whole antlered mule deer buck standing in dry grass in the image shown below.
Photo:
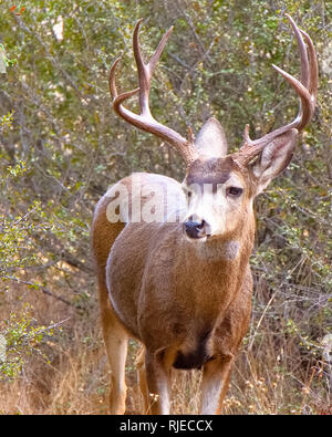
<path fill-rule="evenodd" d="M 114 111 L 167 142 L 186 163 L 181 184 L 162 175 L 133 174 L 111 187 L 95 209 L 92 244 L 112 371 L 112 414 L 125 412 L 131 336 L 143 343 L 137 367 L 145 413 L 169 414 L 172 367 L 203 368 L 200 410 L 220 413 L 250 320 L 252 201 L 288 166 L 315 107 L 315 50 L 310 37 L 288 19 L 300 48 L 301 77 L 273 67 L 300 97 L 299 114 L 255 141 L 247 125 L 243 144 L 234 154 L 227 154 L 216 118 L 209 118 L 194 139 L 191 129 L 185 138 L 151 113 L 151 81 L 172 28 L 145 63 L 138 43 L 142 20 L 137 22 L 133 46 L 139 87 L 118 94 L 120 59 L 111 69 Z M 123 106 L 133 95 L 138 95 L 139 114 Z M 142 218 L 144 214 L 147 219 Z"/>

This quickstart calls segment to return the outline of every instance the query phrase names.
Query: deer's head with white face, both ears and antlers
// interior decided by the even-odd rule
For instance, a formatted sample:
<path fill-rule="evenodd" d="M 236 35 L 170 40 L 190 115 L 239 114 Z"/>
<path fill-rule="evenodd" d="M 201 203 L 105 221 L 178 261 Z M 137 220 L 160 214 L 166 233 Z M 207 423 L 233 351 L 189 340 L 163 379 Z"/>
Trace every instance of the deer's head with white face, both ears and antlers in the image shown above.
<path fill-rule="evenodd" d="M 227 154 L 225 133 L 216 118 L 209 118 L 195 139 L 190 128 L 188 138 L 185 138 L 158 123 L 151 113 L 151 80 L 173 28 L 163 37 L 146 64 L 138 43 L 142 20 L 137 22 L 133 37 L 139 85 L 136 90 L 118 94 L 115 69 L 120 59 L 111 67 L 108 83 L 115 112 L 129 124 L 169 143 L 186 163 L 183 188 L 187 195 L 188 210 L 183 229 L 190 241 L 225 237 L 239 229 L 240 221 L 246 220 L 243 211 L 251 211 L 253 198 L 288 166 L 299 135 L 312 118 L 318 90 L 315 50 L 310 37 L 297 27 L 290 15 L 287 17 L 300 49 L 301 77 L 297 80 L 278 66 L 273 67 L 300 97 L 298 116 L 288 125 L 255 141 L 250 139 L 249 125 L 246 125 L 243 144 L 234 154 Z M 138 94 L 139 114 L 123 106 L 123 102 L 135 94 Z"/>

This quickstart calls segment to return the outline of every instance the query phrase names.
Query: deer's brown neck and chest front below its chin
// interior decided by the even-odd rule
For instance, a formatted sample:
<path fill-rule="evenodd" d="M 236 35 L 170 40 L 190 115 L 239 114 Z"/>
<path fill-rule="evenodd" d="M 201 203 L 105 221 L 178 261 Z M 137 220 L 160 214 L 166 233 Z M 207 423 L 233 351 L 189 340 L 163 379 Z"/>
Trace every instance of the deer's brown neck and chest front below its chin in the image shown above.
<path fill-rule="evenodd" d="M 180 290 L 177 301 L 194 313 L 198 309 L 195 318 L 203 324 L 216 325 L 242 288 L 253 246 L 255 222 L 251 225 L 242 233 L 201 243 L 181 240 L 174 274 Z"/>

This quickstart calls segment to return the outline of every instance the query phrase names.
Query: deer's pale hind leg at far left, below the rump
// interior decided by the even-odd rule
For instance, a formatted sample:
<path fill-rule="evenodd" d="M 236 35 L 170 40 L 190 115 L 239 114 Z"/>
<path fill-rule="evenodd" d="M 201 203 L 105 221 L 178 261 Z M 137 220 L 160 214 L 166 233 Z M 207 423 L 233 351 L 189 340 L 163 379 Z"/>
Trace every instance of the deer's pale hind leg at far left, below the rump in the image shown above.
<path fill-rule="evenodd" d="M 111 370 L 110 413 L 124 414 L 126 402 L 125 363 L 128 334 L 108 301 L 106 285 L 100 288 L 103 336 Z"/>

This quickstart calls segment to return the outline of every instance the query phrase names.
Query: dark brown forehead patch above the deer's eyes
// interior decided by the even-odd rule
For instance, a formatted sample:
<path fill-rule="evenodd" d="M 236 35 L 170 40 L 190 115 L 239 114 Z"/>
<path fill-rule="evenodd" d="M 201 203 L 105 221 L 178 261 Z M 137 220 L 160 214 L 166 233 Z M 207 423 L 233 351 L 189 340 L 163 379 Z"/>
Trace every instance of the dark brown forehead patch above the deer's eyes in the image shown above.
<path fill-rule="evenodd" d="M 237 165 L 231 156 L 226 158 L 197 159 L 188 169 L 186 181 L 191 184 L 225 184 Z"/>

